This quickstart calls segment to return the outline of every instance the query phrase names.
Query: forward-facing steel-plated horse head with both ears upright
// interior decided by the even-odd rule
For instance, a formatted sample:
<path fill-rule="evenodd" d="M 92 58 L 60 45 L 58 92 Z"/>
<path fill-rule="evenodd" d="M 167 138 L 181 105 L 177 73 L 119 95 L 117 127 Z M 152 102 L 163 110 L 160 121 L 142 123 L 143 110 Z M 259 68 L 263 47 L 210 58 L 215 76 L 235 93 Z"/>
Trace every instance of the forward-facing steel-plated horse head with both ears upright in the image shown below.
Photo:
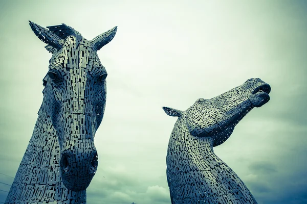
<path fill-rule="evenodd" d="M 42 28 L 30 21 L 35 35 L 52 53 L 43 79 L 43 104 L 57 132 L 61 181 L 69 190 L 85 190 L 97 170 L 94 136 L 106 99 L 105 67 L 97 50 L 110 42 L 117 27 L 86 40 L 68 25 Z"/>

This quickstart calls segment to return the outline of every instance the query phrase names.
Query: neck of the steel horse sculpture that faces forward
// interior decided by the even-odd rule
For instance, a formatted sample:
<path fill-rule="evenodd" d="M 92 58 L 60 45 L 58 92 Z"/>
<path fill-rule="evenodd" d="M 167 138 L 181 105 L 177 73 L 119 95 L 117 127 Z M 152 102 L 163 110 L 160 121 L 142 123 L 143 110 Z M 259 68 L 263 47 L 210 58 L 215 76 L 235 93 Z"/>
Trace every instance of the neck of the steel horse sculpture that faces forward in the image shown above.
<path fill-rule="evenodd" d="M 86 192 L 61 182 L 60 147 L 44 97 L 34 131 L 5 203 L 86 203 Z"/>

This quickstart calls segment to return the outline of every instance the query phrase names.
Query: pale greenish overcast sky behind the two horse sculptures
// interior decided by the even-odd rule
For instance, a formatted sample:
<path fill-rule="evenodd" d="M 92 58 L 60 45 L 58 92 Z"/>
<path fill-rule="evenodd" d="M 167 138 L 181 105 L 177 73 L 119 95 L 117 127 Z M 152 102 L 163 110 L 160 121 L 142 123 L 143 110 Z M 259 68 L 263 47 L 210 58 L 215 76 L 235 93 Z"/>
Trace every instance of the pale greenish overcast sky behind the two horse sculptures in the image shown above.
<path fill-rule="evenodd" d="M 107 101 L 87 203 L 170 204 L 166 150 L 186 110 L 247 79 L 271 85 L 215 147 L 258 203 L 307 203 L 306 1 L 0 1 L 0 203 L 31 138 L 51 54 L 28 20 L 86 39 L 118 26 L 98 55 Z M 11 177 L 10 177 L 11 176 Z"/>

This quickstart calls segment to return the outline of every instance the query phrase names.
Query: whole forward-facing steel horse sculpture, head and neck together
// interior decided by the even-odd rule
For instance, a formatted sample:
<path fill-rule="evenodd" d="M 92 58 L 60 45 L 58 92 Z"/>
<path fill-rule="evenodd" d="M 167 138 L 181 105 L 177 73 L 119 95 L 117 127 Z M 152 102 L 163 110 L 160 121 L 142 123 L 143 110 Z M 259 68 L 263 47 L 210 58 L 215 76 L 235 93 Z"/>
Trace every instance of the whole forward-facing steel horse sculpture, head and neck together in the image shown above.
<path fill-rule="evenodd" d="M 5 203 L 86 203 L 106 97 L 107 72 L 97 50 L 117 27 L 86 40 L 65 24 L 30 26 L 52 58 L 33 135 Z"/>

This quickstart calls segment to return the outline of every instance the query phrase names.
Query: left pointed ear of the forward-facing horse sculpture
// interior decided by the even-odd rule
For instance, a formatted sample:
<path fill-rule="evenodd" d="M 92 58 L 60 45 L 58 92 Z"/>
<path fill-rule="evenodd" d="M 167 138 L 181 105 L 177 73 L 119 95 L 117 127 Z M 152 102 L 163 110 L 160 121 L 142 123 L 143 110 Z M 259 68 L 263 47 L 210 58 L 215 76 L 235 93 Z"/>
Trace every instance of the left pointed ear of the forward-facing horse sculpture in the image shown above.
<path fill-rule="evenodd" d="M 53 46 L 56 49 L 60 49 L 62 48 L 62 45 L 64 44 L 64 41 L 62 39 L 60 39 L 57 35 L 55 35 L 54 33 L 52 33 L 51 31 L 41 27 L 40 25 L 34 23 L 34 22 L 30 22 L 30 27 L 32 29 L 32 31 L 35 33 L 35 35 L 43 42 L 45 42 L 46 44 L 49 44 L 51 46 Z"/>

